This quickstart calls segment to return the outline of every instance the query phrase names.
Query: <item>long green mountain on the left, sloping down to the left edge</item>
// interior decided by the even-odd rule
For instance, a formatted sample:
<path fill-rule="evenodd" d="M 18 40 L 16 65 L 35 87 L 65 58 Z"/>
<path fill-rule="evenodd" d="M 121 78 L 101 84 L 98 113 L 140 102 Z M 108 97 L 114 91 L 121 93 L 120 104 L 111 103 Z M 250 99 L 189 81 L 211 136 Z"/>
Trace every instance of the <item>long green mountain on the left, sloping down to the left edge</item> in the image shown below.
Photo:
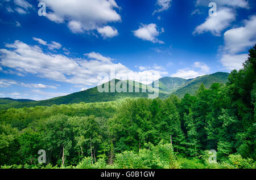
<path fill-rule="evenodd" d="M 113 84 L 114 87 L 117 85 L 117 83 L 126 83 L 126 89 L 127 92 L 110 92 L 110 87 Z M 67 96 L 61 96 L 61 97 L 55 97 L 51 98 L 49 100 L 43 100 L 43 101 L 32 101 L 32 102 L 16 102 L 13 103 L 11 102 L 10 104 L 5 104 L 1 105 L 0 104 L 0 110 L 1 109 L 9 109 L 9 108 L 23 108 L 23 107 L 31 107 L 31 106 L 51 106 L 51 105 L 61 105 L 61 104 L 75 104 L 75 103 L 80 103 L 80 102 L 108 102 L 108 101 L 115 101 L 115 100 L 120 100 L 122 98 L 147 98 L 148 95 L 152 93 L 148 93 L 146 91 L 147 85 L 134 82 L 131 80 L 118 80 L 118 79 L 113 79 L 108 84 L 108 92 L 99 92 L 97 87 L 87 89 L 86 91 L 80 91 L 76 93 L 72 93 L 71 95 Z M 132 85 L 133 92 L 129 92 L 129 84 Z M 104 87 L 102 85 L 102 87 Z M 120 85 L 119 85 L 120 87 Z M 121 85 L 122 88 L 122 85 Z M 149 88 L 154 90 L 151 86 Z M 135 92 L 135 89 L 138 89 L 138 92 Z M 160 98 L 164 98 L 167 94 L 165 93 L 159 93 Z"/>

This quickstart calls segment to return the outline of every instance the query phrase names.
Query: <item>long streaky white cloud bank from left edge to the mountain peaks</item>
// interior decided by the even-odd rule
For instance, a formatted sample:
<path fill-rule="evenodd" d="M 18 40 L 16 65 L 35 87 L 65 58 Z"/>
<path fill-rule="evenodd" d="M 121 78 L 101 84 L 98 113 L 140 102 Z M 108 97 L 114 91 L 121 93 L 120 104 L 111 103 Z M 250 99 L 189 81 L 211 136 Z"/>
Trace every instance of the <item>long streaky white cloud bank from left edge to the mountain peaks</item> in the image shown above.
<path fill-rule="evenodd" d="M 0 65 L 23 74 L 34 74 L 41 78 L 56 80 L 77 85 L 93 86 L 101 82 L 100 73 L 110 75 L 115 70 L 117 79 L 138 79 L 140 77 L 154 76 L 156 80 L 166 71 L 148 69 L 132 71 L 121 63 L 113 63 L 113 59 L 104 57 L 100 53 L 84 54 L 86 58 L 69 58 L 63 54 L 44 53 L 39 47 L 27 45 L 16 40 L 13 44 L 6 44 L 6 49 L 0 49 Z M 139 80 L 142 83 L 145 79 Z"/>

